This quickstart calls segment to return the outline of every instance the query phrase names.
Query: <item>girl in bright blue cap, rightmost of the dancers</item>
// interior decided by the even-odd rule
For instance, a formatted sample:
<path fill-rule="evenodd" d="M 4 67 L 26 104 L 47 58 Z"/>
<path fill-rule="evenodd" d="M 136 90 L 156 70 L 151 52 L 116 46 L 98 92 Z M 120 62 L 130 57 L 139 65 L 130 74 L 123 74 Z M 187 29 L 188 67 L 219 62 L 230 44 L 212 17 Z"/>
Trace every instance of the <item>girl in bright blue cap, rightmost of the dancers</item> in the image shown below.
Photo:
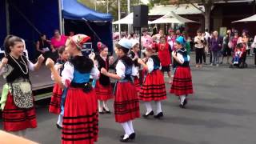
<path fill-rule="evenodd" d="M 174 43 L 176 50 L 172 52 L 174 58 L 174 80 L 170 94 L 180 99 L 180 107 L 185 108 L 188 94 L 193 94 L 192 76 L 190 72 L 190 56 L 184 48 L 184 38 L 178 37 Z"/>

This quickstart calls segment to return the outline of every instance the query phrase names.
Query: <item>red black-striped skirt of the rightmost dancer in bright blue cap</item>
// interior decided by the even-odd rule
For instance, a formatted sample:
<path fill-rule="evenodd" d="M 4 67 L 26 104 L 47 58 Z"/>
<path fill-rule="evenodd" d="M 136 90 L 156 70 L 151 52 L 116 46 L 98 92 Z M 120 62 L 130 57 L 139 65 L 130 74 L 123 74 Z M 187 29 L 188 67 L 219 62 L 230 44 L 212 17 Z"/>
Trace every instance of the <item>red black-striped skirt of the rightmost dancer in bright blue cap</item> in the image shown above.
<path fill-rule="evenodd" d="M 174 73 L 174 80 L 170 89 L 170 93 L 175 94 L 176 96 L 193 94 L 193 84 L 190 67 L 177 67 Z"/>

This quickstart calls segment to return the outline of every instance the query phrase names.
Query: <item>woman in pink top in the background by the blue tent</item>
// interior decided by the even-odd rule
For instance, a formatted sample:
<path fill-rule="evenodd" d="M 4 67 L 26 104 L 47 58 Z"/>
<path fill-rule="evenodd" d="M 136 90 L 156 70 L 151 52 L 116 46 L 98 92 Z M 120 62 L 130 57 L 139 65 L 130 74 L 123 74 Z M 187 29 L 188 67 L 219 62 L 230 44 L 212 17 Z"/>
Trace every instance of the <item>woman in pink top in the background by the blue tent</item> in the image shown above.
<path fill-rule="evenodd" d="M 66 43 L 66 37 L 65 35 L 59 34 L 58 30 L 54 30 L 54 37 L 50 39 L 51 44 L 51 50 L 54 53 L 56 50 L 58 50 L 60 47 L 65 46 Z"/>

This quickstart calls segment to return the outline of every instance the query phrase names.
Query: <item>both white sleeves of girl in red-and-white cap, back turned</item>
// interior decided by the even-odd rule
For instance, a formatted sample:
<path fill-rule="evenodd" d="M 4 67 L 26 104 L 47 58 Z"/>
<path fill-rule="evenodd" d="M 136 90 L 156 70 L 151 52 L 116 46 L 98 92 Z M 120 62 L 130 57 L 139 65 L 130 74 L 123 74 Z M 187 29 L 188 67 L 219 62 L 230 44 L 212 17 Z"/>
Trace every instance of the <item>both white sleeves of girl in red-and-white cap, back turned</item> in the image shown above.
<path fill-rule="evenodd" d="M 90 76 L 93 79 L 98 79 L 99 70 L 96 66 L 90 70 Z M 74 66 L 70 62 L 64 64 L 64 69 L 62 70 L 62 84 L 67 86 L 66 81 L 71 82 L 74 78 Z"/>

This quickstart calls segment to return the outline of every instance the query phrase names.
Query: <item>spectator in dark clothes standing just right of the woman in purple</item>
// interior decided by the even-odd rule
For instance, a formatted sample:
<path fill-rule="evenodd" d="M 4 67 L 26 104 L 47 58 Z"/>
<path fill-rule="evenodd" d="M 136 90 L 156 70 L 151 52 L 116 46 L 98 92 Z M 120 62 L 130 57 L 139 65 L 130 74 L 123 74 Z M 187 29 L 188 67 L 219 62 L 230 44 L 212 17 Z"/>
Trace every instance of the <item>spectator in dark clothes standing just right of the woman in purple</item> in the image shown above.
<path fill-rule="evenodd" d="M 231 51 L 232 51 L 232 45 L 231 44 L 231 30 L 226 31 L 226 36 L 223 38 L 223 47 L 222 47 L 222 62 L 224 58 L 226 57 L 226 64 L 230 64 L 230 56 L 231 56 Z"/>

